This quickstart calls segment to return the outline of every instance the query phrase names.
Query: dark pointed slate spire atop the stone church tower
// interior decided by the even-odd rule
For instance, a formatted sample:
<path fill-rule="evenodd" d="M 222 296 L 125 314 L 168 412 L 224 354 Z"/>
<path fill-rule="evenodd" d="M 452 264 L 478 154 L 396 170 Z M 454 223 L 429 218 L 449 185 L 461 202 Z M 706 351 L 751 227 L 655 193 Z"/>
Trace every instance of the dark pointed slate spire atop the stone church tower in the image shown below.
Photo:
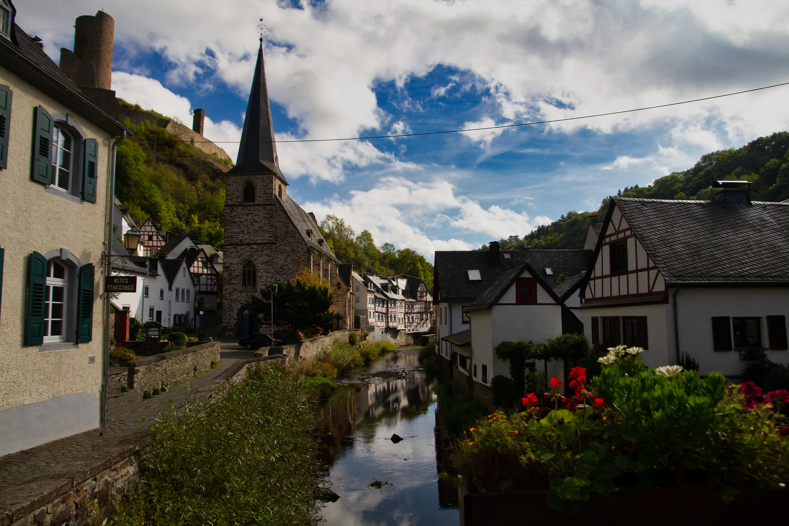
<path fill-rule="evenodd" d="M 249 91 L 249 103 L 244 118 L 244 130 L 241 132 L 241 144 L 238 146 L 236 166 L 227 173 L 275 173 L 283 183 L 288 184 L 279 170 L 274 122 L 271 121 L 271 104 L 268 102 L 262 38 L 260 49 L 257 51 L 255 76 L 252 78 L 252 89 Z"/>

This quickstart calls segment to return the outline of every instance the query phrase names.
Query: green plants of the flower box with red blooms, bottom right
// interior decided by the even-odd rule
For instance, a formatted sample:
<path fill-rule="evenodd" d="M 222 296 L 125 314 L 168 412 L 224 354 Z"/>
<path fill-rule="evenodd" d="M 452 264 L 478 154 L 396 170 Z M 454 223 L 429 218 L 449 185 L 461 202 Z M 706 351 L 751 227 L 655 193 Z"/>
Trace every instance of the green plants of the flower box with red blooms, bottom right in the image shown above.
<path fill-rule="evenodd" d="M 469 489 L 548 490 L 548 505 L 572 513 L 590 494 L 627 485 L 707 483 L 729 499 L 789 477 L 783 417 L 746 408 L 720 373 L 653 375 L 623 354 L 586 388 L 597 408 L 542 419 L 498 412 L 479 423 L 452 454 Z"/>

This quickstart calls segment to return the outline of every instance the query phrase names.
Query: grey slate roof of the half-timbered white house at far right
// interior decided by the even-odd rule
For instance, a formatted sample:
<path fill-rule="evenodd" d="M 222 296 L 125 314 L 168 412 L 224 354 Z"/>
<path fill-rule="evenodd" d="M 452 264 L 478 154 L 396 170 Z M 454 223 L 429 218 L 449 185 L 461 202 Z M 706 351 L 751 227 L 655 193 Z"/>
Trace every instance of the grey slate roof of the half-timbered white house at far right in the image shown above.
<path fill-rule="evenodd" d="M 789 282 L 789 203 L 614 202 L 669 283 Z"/>

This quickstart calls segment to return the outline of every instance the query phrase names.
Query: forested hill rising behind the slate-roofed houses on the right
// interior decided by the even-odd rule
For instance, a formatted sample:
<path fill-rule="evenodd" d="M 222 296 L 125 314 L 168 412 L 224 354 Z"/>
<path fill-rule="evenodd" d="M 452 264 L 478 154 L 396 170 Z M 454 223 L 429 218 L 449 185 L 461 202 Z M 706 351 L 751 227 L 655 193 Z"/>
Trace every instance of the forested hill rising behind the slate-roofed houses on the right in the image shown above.
<path fill-rule="evenodd" d="M 753 200 L 789 199 L 789 132 L 759 137 L 741 148 L 714 151 L 702 155 L 690 170 L 669 173 L 652 185 L 625 187 L 618 196 L 645 199 L 709 200 L 714 181 L 753 181 Z M 583 248 L 589 229 L 589 215 L 600 220 L 608 212 L 607 197 L 595 212 L 570 211 L 550 225 L 538 226 L 525 237 L 529 248 Z M 514 242 L 517 241 L 517 242 Z M 501 240 L 502 247 L 523 246 L 518 236 Z"/>

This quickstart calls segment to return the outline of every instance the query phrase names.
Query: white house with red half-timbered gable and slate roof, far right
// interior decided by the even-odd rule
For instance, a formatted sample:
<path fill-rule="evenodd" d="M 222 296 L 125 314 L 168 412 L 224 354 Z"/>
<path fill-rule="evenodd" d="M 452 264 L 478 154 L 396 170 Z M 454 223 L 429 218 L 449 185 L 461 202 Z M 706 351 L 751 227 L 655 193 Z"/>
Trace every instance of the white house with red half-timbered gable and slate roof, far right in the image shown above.
<path fill-rule="evenodd" d="M 645 364 L 742 373 L 747 349 L 789 364 L 789 203 L 718 181 L 711 201 L 614 197 L 584 284 L 593 345 L 639 345 Z"/>

